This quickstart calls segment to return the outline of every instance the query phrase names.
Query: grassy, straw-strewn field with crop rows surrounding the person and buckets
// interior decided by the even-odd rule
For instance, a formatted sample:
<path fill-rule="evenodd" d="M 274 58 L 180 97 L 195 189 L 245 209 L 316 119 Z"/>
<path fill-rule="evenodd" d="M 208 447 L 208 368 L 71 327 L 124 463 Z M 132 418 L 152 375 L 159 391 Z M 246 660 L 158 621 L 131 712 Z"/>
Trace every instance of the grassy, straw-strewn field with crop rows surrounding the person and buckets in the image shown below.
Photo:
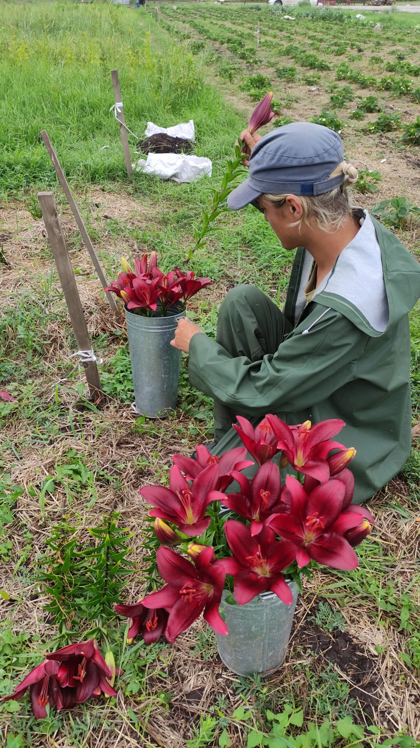
<path fill-rule="evenodd" d="M 293 10 L 293 12 L 291 12 Z M 285 15 L 294 16 L 286 19 Z M 126 643 L 114 602 L 135 602 L 151 552 L 138 489 L 165 482 L 173 453 L 212 437 L 211 400 L 182 362 L 170 420 L 132 410 L 123 316 L 115 319 L 65 200 L 46 129 L 108 278 L 155 250 L 166 272 L 255 102 L 342 135 L 359 169 L 354 203 L 420 251 L 420 27 L 416 15 L 206 3 L 145 9 L 67 1 L 0 4 L 0 696 L 45 652 L 96 635 L 123 674 L 117 696 L 35 720 L 28 696 L 0 702 L 7 748 L 336 748 L 420 741 L 420 307 L 412 331 L 413 451 L 369 503 L 377 519 L 355 571 L 316 571 L 297 604 L 285 665 L 233 675 L 197 622 L 174 645 Z M 382 25 L 375 30 L 374 25 Z M 257 30 L 259 34 L 257 36 Z M 259 42 L 259 43 L 257 43 Z M 126 174 L 114 114 L 117 68 L 132 159 L 148 121 L 194 120 L 211 179 Z M 138 158 L 137 156 L 136 158 Z M 83 370 L 37 192 L 55 192 L 107 400 Z M 389 201 L 392 200 L 392 203 Z M 226 291 L 256 283 L 279 304 L 291 256 L 252 207 L 218 218 L 191 269 L 214 281 L 190 316 L 210 335 Z M 124 551 L 111 564 L 107 537 Z M 384 742 L 385 741 L 385 742 Z"/>

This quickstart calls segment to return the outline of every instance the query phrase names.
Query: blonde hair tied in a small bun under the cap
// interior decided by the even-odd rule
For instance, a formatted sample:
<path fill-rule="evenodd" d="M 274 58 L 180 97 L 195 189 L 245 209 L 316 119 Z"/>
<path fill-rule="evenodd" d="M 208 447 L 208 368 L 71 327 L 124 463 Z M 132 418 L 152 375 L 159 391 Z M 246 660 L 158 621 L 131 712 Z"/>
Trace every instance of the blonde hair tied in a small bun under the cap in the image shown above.
<path fill-rule="evenodd" d="M 312 196 L 306 194 L 293 195 L 300 200 L 303 209 L 302 218 L 296 221 L 291 226 L 300 226 L 303 222 L 308 223 L 308 218 L 315 218 L 318 226 L 324 231 L 336 231 L 344 223 L 345 219 L 351 215 L 351 206 L 348 195 L 348 186 L 353 184 L 359 179 L 359 172 L 357 169 L 348 164 L 347 161 L 342 161 L 341 164 L 336 166 L 333 172 L 330 174 L 331 177 L 338 177 L 339 174 L 345 174 L 345 179 L 342 185 L 336 187 L 329 192 L 324 194 L 317 194 Z M 281 206 L 285 202 L 285 198 L 288 197 L 290 192 L 285 194 L 262 194 L 261 197 L 264 200 L 268 200 L 269 203 L 275 206 Z"/>

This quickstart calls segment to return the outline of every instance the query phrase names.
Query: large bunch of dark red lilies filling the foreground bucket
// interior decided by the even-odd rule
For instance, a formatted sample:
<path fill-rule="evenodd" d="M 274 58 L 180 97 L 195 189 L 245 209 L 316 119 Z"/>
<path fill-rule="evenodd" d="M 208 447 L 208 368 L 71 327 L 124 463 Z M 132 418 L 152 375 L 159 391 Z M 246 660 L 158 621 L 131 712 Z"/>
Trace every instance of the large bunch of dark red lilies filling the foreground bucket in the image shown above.
<path fill-rule="evenodd" d="M 300 584 L 301 569 L 358 564 L 353 548 L 374 519 L 351 503 L 348 465 L 356 450 L 332 440 L 345 423 L 288 426 L 274 415 L 256 429 L 245 418 L 238 423 L 244 448 L 214 456 L 200 446 L 197 459 L 176 455 L 169 488 L 140 489 L 153 507 L 149 515 L 162 544 L 156 560 L 166 585 L 138 604 L 116 606 L 131 619 L 129 643 L 140 633 L 145 643 L 161 634 L 173 642 L 202 613 L 217 634 L 227 634 L 219 613 L 223 589 L 239 605 L 266 590 L 291 604 L 288 580 Z M 243 474 L 254 464 L 247 453 L 259 465 L 252 480 Z M 280 470 L 287 467 L 295 475 L 282 482 Z M 235 492 L 225 493 L 234 481 Z"/>

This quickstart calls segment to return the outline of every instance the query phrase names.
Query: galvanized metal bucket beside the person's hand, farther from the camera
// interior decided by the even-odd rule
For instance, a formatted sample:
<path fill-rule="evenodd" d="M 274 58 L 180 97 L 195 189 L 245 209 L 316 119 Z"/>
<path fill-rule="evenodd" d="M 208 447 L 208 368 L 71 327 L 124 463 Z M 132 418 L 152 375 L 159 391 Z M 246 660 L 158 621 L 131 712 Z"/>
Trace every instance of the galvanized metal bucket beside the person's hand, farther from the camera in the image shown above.
<path fill-rule="evenodd" d="M 170 346 L 185 311 L 146 317 L 124 307 L 135 386 L 135 409 L 148 418 L 167 417 L 176 407 L 181 351 Z"/>

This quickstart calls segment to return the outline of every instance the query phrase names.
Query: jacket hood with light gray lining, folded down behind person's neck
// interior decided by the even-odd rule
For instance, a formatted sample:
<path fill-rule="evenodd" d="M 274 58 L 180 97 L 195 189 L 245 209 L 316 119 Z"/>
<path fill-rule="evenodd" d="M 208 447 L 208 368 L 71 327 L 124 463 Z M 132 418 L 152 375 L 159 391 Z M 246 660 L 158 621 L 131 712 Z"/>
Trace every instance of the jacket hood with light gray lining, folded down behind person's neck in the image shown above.
<path fill-rule="evenodd" d="M 406 316 L 420 297 L 420 263 L 367 211 L 354 212 L 362 219 L 360 230 L 316 289 L 312 303 L 342 313 L 362 332 L 379 337 Z M 305 250 L 304 254 L 302 282 L 309 253 Z M 299 297 L 301 292 L 297 307 Z"/>

